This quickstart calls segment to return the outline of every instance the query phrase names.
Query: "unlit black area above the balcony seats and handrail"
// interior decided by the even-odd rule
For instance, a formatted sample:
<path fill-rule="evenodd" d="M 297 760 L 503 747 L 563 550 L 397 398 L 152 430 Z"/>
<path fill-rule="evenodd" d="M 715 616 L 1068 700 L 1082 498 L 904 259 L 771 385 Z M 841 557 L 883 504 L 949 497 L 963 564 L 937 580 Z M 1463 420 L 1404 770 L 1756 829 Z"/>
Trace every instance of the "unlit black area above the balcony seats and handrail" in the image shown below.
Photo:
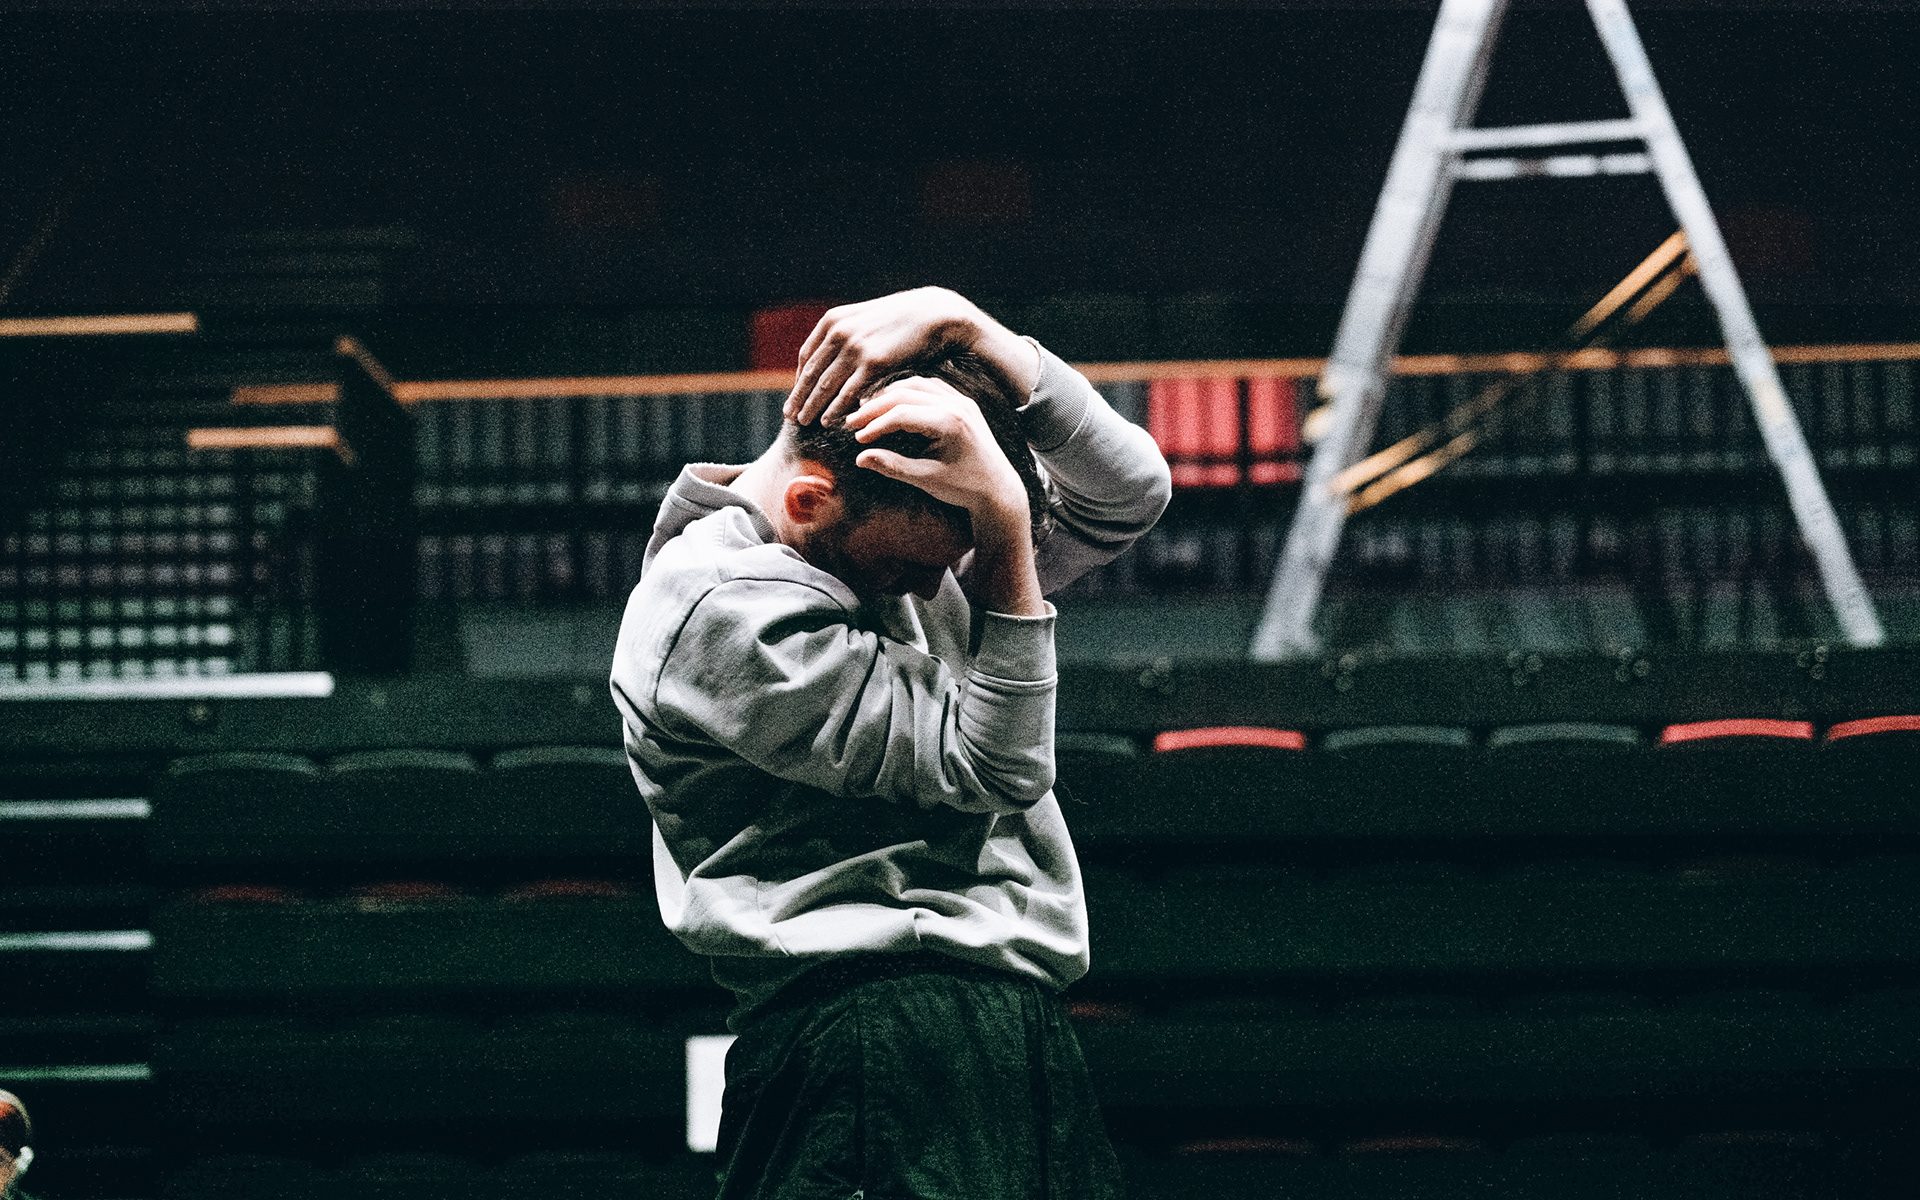
<path fill-rule="evenodd" d="M 17 13 L 0 311 L 394 227 L 388 309 L 1210 294 L 1323 353 L 1434 8 Z M 1920 15 L 1636 13 L 1763 332 L 1912 336 Z M 1509 15 L 1480 125 L 1622 113 L 1582 10 Z M 1544 344 L 1670 228 L 1649 177 L 1461 186 L 1427 307 L 1498 317 L 1409 348 Z M 1688 311 L 1645 336 L 1713 340 Z"/>

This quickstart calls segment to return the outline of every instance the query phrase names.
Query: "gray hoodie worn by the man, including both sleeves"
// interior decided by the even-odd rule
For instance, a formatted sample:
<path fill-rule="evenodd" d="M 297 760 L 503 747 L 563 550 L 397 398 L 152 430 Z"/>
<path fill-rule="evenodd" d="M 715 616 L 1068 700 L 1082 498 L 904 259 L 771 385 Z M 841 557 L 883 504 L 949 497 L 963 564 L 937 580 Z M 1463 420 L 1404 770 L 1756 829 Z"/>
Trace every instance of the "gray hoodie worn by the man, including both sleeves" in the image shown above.
<path fill-rule="evenodd" d="M 1037 549 L 1054 591 L 1152 528 L 1167 465 L 1046 349 L 1020 417 L 1058 522 Z M 852 952 L 1079 979 L 1052 607 L 973 609 L 972 555 L 931 601 L 862 601 L 728 488 L 741 470 L 695 463 L 674 480 L 612 659 L 660 916 L 733 991 L 728 1025 Z"/>

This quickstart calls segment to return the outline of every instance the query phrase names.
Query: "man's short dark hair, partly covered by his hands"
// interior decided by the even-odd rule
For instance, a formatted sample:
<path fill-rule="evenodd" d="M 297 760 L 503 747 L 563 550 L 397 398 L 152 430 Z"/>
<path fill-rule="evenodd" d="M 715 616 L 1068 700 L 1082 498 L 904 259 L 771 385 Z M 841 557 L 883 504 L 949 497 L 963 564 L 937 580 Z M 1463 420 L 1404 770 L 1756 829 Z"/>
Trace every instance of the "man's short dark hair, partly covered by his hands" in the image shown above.
<path fill-rule="evenodd" d="M 979 405 L 981 417 L 987 419 L 987 428 L 993 430 L 993 440 L 1014 465 L 1014 472 L 1020 474 L 1020 482 L 1027 490 L 1033 543 L 1039 545 L 1052 530 L 1052 513 L 1046 503 L 1046 486 L 1041 482 L 1039 465 L 1033 461 L 1033 449 L 1020 432 L 1020 415 L 1014 413 L 1020 399 L 1014 397 L 1006 382 L 979 355 L 966 349 L 948 351 L 939 359 L 893 371 L 874 380 L 860 399 L 864 401 L 887 384 L 910 376 L 943 380 Z M 812 459 L 833 474 L 833 488 L 841 493 L 849 518 L 858 520 L 874 509 L 906 509 L 910 513 L 939 516 L 956 530 L 972 528 L 966 509 L 933 499 L 904 480 L 868 470 L 854 461 L 862 449 L 891 449 L 908 459 L 924 459 L 929 445 L 925 434 L 897 430 L 881 434 L 874 442 L 858 442 L 845 424 L 829 426 L 820 420 L 795 424 L 789 420 L 783 426 L 783 436 L 787 438 L 787 449 L 795 457 Z"/>

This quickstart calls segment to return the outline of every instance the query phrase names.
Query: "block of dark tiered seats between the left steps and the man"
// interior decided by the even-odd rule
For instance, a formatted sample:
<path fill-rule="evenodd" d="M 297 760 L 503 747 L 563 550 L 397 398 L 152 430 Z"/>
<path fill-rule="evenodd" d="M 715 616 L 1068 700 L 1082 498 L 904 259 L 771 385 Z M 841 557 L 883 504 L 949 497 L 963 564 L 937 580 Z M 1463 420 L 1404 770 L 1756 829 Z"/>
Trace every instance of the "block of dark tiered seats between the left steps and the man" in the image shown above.
<path fill-rule="evenodd" d="M 672 1175 L 651 1160 L 684 1140 L 685 1039 L 724 1004 L 660 927 L 616 747 L 186 755 L 152 845 L 196 883 L 154 918 L 175 1014 L 154 1069 L 207 1152 L 169 1194 L 516 1196 L 547 1169 L 589 1198 Z M 503 1125 L 547 1165 L 505 1171 Z M 296 1135 L 392 1150 L 215 1154 Z"/>

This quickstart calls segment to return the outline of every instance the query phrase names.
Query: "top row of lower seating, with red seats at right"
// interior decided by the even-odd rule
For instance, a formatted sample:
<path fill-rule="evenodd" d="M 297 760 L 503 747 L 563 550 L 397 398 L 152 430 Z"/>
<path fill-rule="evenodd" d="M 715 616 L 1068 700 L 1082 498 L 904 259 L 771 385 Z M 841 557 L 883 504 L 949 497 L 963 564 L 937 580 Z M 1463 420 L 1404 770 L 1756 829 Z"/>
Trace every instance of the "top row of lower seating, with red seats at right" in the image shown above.
<path fill-rule="evenodd" d="M 1311 749 L 1309 749 L 1311 745 Z M 1816 749 L 1818 747 L 1818 749 Z M 1089 841 L 1551 833 L 1920 833 L 1920 716 L 1830 726 L 1718 720 L 1334 730 L 1169 730 L 1060 741 Z M 386 749 L 175 758 L 156 780 L 163 864 L 647 856 L 612 747 Z"/>

